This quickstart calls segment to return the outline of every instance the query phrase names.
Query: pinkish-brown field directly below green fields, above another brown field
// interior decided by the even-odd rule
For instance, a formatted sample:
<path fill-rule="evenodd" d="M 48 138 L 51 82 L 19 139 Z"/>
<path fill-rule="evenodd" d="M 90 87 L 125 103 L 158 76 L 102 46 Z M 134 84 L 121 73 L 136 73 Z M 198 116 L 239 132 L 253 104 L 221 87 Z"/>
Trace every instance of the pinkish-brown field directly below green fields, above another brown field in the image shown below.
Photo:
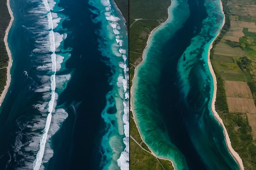
<path fill-rule="evenodd" d="M 245 97 L 252 99 L 252 92 L 246 82 L 228 80 L 225 80 L 224 82 L 227 97 Z"/>

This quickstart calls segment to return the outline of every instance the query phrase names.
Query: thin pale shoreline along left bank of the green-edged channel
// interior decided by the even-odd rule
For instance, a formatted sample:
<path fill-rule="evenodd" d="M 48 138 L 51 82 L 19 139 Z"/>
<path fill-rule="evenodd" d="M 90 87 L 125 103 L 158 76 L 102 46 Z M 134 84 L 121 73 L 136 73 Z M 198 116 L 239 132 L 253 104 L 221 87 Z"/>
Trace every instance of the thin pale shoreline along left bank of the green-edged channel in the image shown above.
<path fill-rule="evenodd" d="M 170 7 L 172 6 L 172 4 L 173 4 L 173 0 L 171 0 L 171 5 L 170 5 L 170 6 L 168 7 L 168 9 L 167 9 L 167 11 L 168 11 L 168 18 L 167 18 L 166 21 L 163 22 L 162 24 L 164 24 L 164 23 L 166 23 L 166 22 L 168 21 L 168 19 L 169 19 L 169 17 L 170 17 L 170 16 L 169 16 L 169 9 L 170 9 Z M 146 47 L 145 47 L 145 49 L 143 50 L 143 53 L 142 53 L 142 61 L 141 61 L 141 63 L 139 63 L 139 64 L 134 68 L 134 76 L 132 77 L 132 86 L 133 86 L 133 81 L 134 81 L 134 78 L 135 78 L 136 68 L 137 68 L 138 66 L 140 66 L 140 65 L 144 62 L 144 53 L 145 53 L 145 51 L 146 51 L 146 49 L 147 49 L 147 47 L 148 47 L 148 41 L 149 41 L 149 39 L 151 38 L 153 32 L 154 32 L 159 26 L 161 26 L 162 24 L 159 24 L 157 27 L 155 27 L 155 28 L 150 32 L 150 35 L 148 36 L 147 45 L 146 45 Z M 132 86 L 131 86 L 131 88 L 130 88 L 130 96 L 131 96 L 130 98 L 131 98 L 131 99 L 132 99 Z M 137 121 L 136 121 L 136 116 L 135 116 L 134 110 L 133 110 L 133 108 L 132 108 L 132 102 L 130 102 L 130 111 L 132 112 L 132 116 L 133 116 L 132 119 L 133 119 L 133 121 L 134 121 L 134 123 L 135 123 L 135 125 L 136 125 L 136 127 L 137 127 L 137 130 L 138 130 L 138 132 L 139 132 L 140 138 L 141 138 L 141 140 L 143 141 L 143 143 L 148 147 L 148 149 L 151 151 L 151 154 L 152 154 L 154 157 L 156 157 L 156 158 L 170 161 L 170 162 L 172 163 L 173 169 L 175 170 L 174 163 L 173 163 L 173 161 L 172 161 L 171 159 L 161 158 L 161 157 L 158 157 L 157 155 L 155 155 L 155 153 L 150 149 L 150 147 L 148 146 L 148 144 L 146 144 L 146 142 L 145 142 L 144 139 L 142 138 L 141 132 L 139 131 L 139 127 L 138 127 L 138 124 L 137 124 Z"/>

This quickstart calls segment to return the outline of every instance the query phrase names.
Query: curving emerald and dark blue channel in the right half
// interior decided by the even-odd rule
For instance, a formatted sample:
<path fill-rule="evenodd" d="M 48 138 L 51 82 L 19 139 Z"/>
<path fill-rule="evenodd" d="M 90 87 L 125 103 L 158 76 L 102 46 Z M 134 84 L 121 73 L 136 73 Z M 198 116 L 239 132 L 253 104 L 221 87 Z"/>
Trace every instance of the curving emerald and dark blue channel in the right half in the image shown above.
<path fill-rule="evenodd" d="M 208 49 L 224 16 L 219 0 L 173 0 L 136 69 L 132 107 L 146 144 L 178 170 L 238 170 L 211 112 Z"/>

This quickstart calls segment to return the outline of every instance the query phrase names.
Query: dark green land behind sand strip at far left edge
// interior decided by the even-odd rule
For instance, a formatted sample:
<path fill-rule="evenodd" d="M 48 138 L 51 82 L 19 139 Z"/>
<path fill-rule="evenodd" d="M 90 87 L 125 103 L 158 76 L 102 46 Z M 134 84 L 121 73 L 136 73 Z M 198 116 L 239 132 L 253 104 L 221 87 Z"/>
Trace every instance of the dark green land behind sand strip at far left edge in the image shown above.
<path fill-rule="evenodd" d="M 9 14 L 8 8 L 7 8 L 7 1 L 6 0 L 0 0 L 0 68 L 7 67 L 9 62 L 9 56 L 6 51 L 6 47 L 4 44 L 4 35 L 5 31 L 9 25 L 9 22 L 11 20 L 11 16 Z M 6 85 L 7 80 L 7 69 L 0 69 L 0 94 L 2 94 L 2 91 L 4 90 L 4 86 Z"/>

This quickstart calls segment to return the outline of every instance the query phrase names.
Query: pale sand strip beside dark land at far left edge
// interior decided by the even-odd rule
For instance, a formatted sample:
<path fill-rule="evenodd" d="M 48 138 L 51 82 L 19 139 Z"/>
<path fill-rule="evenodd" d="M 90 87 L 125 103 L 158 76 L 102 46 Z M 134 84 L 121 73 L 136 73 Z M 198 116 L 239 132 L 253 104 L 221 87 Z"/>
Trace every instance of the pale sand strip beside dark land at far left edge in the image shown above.
<path fill-rule="evenodd" d="M 10 0 L 7 0 L 7 7 L 8 7 L 8 11 L 11 15 L 11 21 L 9 23 L 9 26 L 7 27 L 6 29 L 6 32 L 5 32 L 5 36 L 4 36 L 4 43 L 5 43 L 5 46 L 6 46 L 6 50 L 7 50 L 7 53 L 8 53 L 8 56 L 9 56 L 9 62 L 8 62 L 8 67 L 7 67 L 7 82 L 6 82 L 6 86 L 4 87 L 4 91 L 2 92 L 2 95 L 0 97 L 0 106 L 4 100 L 4 97 L 8 91 L 8 88 L 10 86 L 10 83 L 11 83 L 11 73 L 10 73 L 10 70 L 11 70 L 11 64 L 12 64 L 12 59 L 11 59 L 11 51 L 9 49 L 9 46 L 8 46 L 8 43 L 7 43 L 7 37 L 8 37 L 8 33 L 9 33 L 9 30 L 11 28 L 11 24 L 13 22 L 13 15 L 12 15 L 12 12 L 11 12 L 11 8 L 10 8 Z"/>

